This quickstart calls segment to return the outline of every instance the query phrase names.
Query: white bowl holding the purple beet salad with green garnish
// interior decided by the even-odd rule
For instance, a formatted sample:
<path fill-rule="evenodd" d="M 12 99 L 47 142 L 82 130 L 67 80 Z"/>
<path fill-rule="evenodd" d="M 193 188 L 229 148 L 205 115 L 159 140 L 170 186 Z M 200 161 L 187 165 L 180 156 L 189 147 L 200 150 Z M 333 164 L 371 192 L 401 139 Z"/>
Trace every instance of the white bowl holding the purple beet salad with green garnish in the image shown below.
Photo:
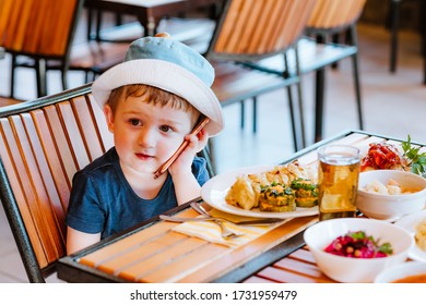
<path fill-rule="evenodd" d="M 393 254 L 378 258 L 353 258 L 324 252 L 336 237 L 353 231 L 364 231 L 380 243 L 389 242 Z M 386 221 L 367 218 L 339 218 L 309 227 L 304 239 L 318 267 L 339 282 L 372 282 L 382 270 L 406 260 L 413 237 L 409 231 Z"/>

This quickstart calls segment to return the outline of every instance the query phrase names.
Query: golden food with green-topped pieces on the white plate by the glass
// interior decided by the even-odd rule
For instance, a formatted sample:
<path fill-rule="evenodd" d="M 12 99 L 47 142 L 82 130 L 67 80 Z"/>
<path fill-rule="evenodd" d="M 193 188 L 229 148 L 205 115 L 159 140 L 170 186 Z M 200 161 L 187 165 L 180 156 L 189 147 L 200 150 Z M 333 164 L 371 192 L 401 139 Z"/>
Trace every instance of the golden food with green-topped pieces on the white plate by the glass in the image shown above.
<path fill-rule="evenodd" d="M 306 198 L 301 199 L 303 205 L 318 204 L 318 199 L 311 198 L 318 197 L 318 192 L 303 192 L 291 187 L 293 181 L 303 179 L 304 181 L 299 181 L 299 188 L 301 184 L 309 185 L 307 188 L 312 188 L 313 185 L 315 188 L 312 176 L 315 175 L 297 161 L 276 166 L 265 172 L 241 174 L 228 190 L 225 202 L 246 210 L 259 208 L 262 211 L 294 211 L 297 198 L 301 195 Z"/>

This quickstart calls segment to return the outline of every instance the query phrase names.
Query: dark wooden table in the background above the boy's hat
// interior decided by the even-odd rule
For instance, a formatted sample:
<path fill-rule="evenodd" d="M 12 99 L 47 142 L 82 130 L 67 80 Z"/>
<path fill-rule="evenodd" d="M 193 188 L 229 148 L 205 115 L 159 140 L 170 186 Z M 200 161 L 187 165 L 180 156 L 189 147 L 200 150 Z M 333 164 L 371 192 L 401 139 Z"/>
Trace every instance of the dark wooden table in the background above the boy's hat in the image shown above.
<path fill-rule="evenodd" d="M 135 15 L 145 28 L 146 36 L 153 36 L 163 17 L 221 2 L 221 0 L 85 0 L 84 7 Z"/>

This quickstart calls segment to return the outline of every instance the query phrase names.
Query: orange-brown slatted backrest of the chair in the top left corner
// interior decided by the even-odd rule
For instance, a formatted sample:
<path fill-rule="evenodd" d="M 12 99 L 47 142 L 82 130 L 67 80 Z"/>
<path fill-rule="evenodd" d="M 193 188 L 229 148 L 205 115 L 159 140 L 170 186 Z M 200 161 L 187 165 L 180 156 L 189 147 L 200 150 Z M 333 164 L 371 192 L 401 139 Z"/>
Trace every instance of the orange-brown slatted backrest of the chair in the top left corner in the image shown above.
<path fill-rule="evenodd" d="M 82 0 L 2 0 L 0 45 L 7 51 L 38 57 L 69 52 Z"/>

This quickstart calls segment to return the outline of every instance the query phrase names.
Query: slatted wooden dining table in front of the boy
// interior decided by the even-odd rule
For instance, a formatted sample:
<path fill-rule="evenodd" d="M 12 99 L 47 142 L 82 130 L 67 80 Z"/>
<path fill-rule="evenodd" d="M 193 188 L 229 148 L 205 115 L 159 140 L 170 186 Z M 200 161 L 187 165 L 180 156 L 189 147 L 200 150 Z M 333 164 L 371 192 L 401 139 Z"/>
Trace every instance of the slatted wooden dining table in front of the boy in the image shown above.
<path fill-rule="evenodd" d="M 317 148 L 348 144 L 365 155 L 368 145 L 399 139 L 348 131 L 295 154 L 316 164 Z M 168 212 L 193 217 L 188 204 Z M 68 282 L 333 282 L 317 267 L 305 247 L 304 230 L 317 216 L 293 218 L 235 248 L 171 231 L 177 223 L 154 218 L 58 263 L 58 277 Z"/>

